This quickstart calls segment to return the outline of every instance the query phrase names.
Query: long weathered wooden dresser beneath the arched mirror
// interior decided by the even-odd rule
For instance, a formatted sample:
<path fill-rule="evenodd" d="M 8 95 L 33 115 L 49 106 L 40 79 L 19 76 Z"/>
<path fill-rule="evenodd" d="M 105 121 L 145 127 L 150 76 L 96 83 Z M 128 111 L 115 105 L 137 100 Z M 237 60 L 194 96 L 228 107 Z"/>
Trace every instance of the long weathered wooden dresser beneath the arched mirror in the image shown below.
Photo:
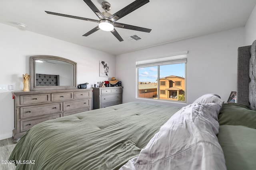
<path fill-rule="evenodd" d="M 92 109 L 92 89 L 13 92 L 16 143 L 34 125 Z"/>

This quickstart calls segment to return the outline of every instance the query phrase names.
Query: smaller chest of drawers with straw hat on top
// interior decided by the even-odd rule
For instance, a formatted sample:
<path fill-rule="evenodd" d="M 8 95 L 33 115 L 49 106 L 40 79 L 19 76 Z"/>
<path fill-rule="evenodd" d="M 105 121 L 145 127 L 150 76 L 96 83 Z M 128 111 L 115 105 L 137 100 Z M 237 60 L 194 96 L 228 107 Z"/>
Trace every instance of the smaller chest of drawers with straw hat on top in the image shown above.
<path fill-rule="evenodd" d="M 122 104 L 122 88 L 100 87 L 93 88 L 93 109 Z"/>

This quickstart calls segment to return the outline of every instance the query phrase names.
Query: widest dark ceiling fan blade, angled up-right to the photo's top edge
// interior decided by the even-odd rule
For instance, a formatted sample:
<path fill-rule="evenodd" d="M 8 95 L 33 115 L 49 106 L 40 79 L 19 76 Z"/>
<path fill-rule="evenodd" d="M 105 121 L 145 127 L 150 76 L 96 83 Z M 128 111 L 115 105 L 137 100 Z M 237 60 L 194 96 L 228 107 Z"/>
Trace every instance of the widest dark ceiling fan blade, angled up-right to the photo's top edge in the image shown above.
<path fill-rule="evenodd" d="M 145 5 L 148 2 L 149 2 L 149 0 L 136 0 L 136 1 L 132 2 L 131 4 L 129 4 L 128 6 L 124 7 L 122 10 L 119 10 L 115 14 L 111 15 L 108 18 L 110 20 L 112 20 L 113 22 L 117 21 L 120 18 L 123 18 L 127 14 L 130 14 L 131 12 L 133 12 L 134 10 L 140 8 L 141 6 Z"/>

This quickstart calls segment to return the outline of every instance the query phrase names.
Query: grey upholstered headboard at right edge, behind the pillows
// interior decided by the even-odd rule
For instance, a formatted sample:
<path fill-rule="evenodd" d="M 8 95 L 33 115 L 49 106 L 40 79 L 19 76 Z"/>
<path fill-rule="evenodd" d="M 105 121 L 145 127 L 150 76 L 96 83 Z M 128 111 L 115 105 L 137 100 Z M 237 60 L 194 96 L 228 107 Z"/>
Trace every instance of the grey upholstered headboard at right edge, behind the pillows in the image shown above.
<path fill-rule="evenodd" d="M 237 102 L 256 110 L 256 41 L 238 48 Z"/>

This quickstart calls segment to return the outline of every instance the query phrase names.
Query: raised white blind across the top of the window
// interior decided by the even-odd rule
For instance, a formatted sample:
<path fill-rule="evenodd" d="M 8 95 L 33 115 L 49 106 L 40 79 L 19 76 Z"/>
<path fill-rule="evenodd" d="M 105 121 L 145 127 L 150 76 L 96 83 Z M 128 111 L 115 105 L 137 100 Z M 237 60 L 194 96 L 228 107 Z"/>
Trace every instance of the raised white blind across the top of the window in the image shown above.
<path fill-rule="evenodd" d="M 136 67 L 149 67 L 149 66 L 159 66 L 167 64 L 179 64 L 187 63 L 188 51 L 182 52 L 176 55 L 168 55 L 168 57 L 160 57 L 155 59 L 136 61 Z"/>

